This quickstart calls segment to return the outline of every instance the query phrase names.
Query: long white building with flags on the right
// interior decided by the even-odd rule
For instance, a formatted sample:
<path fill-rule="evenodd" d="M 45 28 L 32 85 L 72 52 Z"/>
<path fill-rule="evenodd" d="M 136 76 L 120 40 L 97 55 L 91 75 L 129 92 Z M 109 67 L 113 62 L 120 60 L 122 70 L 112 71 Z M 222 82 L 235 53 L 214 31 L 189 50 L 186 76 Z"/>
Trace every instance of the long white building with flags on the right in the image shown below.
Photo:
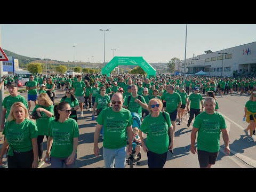
<path fill-rule="evenodd" d="M 205 53 L 186 59 L 188 75 L 194 75 L 203 70 L 211 76 L 233 76 L 234 70 L 242 75 L 250 74 L 256 70 L 256 42 L 215 52 L 209 50 Z M 184 60 L 175 63 L 175 71 L 182 73 L 183 70 Z"/>

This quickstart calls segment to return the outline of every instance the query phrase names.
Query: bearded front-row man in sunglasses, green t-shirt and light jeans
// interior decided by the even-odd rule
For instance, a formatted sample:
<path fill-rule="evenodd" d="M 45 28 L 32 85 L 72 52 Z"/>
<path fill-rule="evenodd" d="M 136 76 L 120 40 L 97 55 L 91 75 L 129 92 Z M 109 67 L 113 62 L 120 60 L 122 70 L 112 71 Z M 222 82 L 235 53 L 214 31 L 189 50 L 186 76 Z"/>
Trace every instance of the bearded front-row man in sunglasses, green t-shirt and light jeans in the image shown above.
<path fill-rule="evenodd" d="M 124 109 L 124 98 L 121 93 L 115 93 L 112 98 L 112 107 L 105 108 L 97 118 L 97 126 L 94 133 L 94 155 L 99 156 L 98 140 L 102 125 L 104 126 L 103 159 L 105 168 L 125 168 L 126 135 L 129 138 L 128 153 L 132 152 L 132 115 Z"/>

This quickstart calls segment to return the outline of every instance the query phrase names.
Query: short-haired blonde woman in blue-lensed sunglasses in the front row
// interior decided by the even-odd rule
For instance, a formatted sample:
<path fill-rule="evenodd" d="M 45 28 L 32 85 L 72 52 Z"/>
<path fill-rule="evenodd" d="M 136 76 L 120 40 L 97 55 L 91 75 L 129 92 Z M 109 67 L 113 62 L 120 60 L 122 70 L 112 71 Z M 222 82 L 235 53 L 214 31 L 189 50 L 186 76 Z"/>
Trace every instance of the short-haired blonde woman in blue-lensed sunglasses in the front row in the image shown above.
<path fill-rule="evenodd" d="M 161 100 L 151 99 L 148 102 L 150 115 L 145 117 L 139 130 L 142 148 L 148 156 L 149 168 L 163 168 L 168 150 L 173 149 L 173 126 L 169 114 L 162 112 L 162 108 L 163 103 Z M 147 133 L 146 145 L 142 132 Z M 171 138 L 170 142 L 169 135 Z"/>

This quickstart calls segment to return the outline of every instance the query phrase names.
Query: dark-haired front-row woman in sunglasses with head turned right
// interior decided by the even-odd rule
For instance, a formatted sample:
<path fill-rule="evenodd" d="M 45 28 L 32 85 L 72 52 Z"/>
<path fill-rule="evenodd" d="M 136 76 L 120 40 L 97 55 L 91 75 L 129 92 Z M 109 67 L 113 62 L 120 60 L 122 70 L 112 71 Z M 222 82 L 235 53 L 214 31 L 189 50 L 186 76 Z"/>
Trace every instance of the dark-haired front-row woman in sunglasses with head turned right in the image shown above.
<path fill-rule="evenodd" d="M 63 168 L 64 165 L 73 168 L 75 165 L 79 131 L 76 121 L 69 118 L 71 111 L 67 102 L 54 106 L 55 119 L 49 126 L 50 134 L 44 157 L 45 163 L 51 164 L 52 168 Z"/>

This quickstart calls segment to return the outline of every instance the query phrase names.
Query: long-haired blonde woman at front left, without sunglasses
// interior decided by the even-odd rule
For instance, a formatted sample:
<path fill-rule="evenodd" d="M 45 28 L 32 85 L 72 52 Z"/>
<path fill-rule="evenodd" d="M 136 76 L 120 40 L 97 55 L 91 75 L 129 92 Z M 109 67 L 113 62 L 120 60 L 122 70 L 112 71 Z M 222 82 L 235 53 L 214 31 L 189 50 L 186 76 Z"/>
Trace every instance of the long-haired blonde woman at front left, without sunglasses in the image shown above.
<path fill-rule="evenodd" d="M 3 134 L 6 139 L 0 153 L 0 165 L 9 147 L 9 168 L 37 168 L 37 126 L 29 119 L 28 109 L 22 102 L 13 103 Z"/>

